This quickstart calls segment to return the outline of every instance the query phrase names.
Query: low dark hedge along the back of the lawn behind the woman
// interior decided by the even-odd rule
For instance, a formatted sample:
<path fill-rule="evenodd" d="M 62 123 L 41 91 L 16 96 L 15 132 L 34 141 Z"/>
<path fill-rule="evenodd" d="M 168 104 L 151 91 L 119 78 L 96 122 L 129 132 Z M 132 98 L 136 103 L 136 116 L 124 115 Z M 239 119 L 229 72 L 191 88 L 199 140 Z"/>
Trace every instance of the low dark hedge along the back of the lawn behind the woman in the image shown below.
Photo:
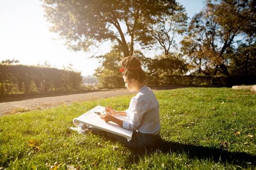
<path fill-rule="evenodd" d="M 235 85 L 254 85 L 256 75 L 200 76 L 200 75 L 164 75 L 147 76 L 147 85 L 211 85 L 231 87 Z M 99 88 L 124 87 L 121 76 L 101 76 Z"/>

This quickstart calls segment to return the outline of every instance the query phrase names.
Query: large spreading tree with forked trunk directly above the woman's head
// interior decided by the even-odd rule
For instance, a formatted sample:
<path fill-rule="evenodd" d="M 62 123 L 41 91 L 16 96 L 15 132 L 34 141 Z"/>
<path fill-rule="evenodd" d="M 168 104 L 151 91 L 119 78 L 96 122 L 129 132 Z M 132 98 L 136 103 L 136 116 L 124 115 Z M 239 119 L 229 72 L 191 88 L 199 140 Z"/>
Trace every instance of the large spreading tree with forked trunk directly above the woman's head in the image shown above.
<path fill-rule="evenodd" d="M 50 30 L 66 41 L 69 49 L 88 51 L 110 40 L 132 55 L 135 43 L 153 44 L 149 24 L 171 15 L 175 0 L 42 0 Z M 128 41 L 129 40 L 129 41 Z"/>

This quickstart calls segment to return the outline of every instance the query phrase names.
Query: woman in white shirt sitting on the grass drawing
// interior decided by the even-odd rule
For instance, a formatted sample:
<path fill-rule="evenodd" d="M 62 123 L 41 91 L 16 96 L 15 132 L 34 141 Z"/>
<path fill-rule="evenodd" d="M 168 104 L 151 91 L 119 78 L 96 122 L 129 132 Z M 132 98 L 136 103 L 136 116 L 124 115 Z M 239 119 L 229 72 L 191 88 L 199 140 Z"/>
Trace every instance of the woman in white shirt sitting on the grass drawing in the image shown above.
<path fill-rule="evenodd" d="M 137 95 L 132 97 L 129 108 L 123 111 L 113 110 L 106 107 L 106 114 L 101 116 L 104 121 L 113 121 L 123 128 L 133 131 L 132 139 L 127 141 L 126 138 L 112 133 L 108 135 L 115 137 L 121 143 L 130 148 L 150 148 L 155 145 L 160 132 L 159 104 L 153 91 L 145 86 L 146 78 L 144 71 L 141 69 L 141 62 L 136 57 L 128 56 L 121 60 L 120 72 L 126 88 L 130 92 L 136 91 Z M 113 115 L 127 116 L 128 121 L 118 119 Z M 93 130 L 93 129 L 92 129 Z"/>

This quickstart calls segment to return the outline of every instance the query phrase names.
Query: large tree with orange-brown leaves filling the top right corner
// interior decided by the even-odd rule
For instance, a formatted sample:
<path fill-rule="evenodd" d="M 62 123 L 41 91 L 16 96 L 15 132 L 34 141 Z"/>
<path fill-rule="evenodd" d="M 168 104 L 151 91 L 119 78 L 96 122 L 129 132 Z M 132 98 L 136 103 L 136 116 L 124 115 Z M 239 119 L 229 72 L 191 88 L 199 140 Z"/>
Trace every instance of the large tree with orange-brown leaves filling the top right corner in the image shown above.
<path fill-rule="evenodd" d="M 189 34 L 183 43 L 183 49 L 194 43 L 196 48 L 185 54 L 190 58 L 194 54 L 200 54 L 195 56 L 197 61 L 204 60 L 214 68 L 213 75 L 218 71 L 229 75 L 230 59 L 226 54 L 238 42 L 243 41 L 241 36 L 255 36 L 255 31 L 252 33 L 255 21 L 254 0 L 207 0 L 206 8 L 191 20 Z"/>

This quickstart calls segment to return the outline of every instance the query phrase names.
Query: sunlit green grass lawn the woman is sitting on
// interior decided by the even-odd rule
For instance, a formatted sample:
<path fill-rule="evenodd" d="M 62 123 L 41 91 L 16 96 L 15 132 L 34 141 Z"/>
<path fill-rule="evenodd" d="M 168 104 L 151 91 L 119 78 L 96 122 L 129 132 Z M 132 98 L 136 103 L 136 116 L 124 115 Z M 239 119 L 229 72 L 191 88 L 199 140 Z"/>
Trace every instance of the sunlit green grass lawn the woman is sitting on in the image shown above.
<path fill-rule="evenodd" d="M 155 92 L 161 132 L 150 151 L 69 127 L 113 98 L 0 117 L 1 169 L 256 169 L 256 93 L 231 88 Z M 133 95 L 112 107 L 128 108 Z M 55 164 L 54 164 L 55 163 Z"/>

